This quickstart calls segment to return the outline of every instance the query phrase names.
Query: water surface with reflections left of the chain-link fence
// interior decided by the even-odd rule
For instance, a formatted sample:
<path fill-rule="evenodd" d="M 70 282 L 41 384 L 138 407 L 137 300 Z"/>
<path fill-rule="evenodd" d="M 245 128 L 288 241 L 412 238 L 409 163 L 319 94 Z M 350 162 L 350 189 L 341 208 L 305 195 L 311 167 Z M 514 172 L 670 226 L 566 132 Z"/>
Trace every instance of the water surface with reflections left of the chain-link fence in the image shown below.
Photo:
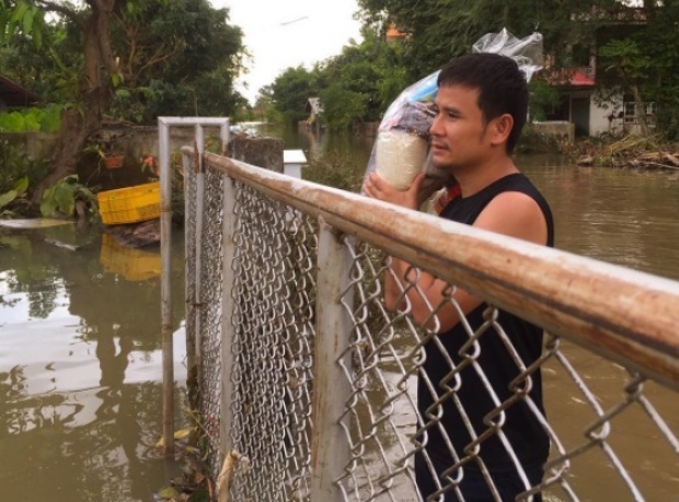
<path fill-rule="evenodd" d="M 3 499 L 148 501 L 174 474 L 153 448 L 162 431 L 159 253 L 104 237 L 73 225 L 0 232 Z"/>

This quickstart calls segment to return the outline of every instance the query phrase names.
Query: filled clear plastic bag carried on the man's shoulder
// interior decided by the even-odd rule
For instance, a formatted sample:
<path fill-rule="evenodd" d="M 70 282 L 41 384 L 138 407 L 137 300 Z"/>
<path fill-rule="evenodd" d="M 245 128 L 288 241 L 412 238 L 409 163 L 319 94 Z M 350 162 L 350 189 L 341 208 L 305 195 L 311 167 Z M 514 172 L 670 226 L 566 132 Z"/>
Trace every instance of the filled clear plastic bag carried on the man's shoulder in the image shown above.
<path fill-rule="evenodd" d="M 503 28 L 499 33 L 488 33 L 479 38 L 472 51 L 496 52 L 513 58 L 527 81 L 542 68 L 542 35 L 538 32 L 517 38 Z M 428 155 L 439 72 L 437 70 L 410 85 L 389 105 L 378 127 L 365 177 L 377 172 L 399 190 L 406 190 L 419 172 L 437 179 L 442 186 L 454 183 L 451 175 L 431 164 Z"/>

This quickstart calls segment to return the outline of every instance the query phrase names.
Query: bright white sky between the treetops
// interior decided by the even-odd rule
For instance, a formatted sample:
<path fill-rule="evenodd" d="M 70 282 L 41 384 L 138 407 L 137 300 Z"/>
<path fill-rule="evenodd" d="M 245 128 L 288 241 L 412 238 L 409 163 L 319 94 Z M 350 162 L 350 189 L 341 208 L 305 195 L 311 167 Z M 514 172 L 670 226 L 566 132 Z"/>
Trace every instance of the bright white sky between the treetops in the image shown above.
<path fill-rule="evenodd" d="M 230 24 L 240 26 L 252 55 L 237 90 L 251 103 L 286 68 L 342 52 L 349 39 L 360 42 L 360 24 L 353 19 L 356 0 L 211 0 L 214 8 L 229 8 Z M 248 89 L 244 84 L 248 84 Z"/>

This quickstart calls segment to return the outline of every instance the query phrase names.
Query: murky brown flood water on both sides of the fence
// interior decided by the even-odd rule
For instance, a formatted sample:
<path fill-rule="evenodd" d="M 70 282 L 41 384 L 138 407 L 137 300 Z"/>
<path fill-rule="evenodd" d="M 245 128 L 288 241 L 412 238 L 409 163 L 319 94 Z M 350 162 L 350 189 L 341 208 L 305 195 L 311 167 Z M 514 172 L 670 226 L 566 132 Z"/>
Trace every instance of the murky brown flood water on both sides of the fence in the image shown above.
<path fill-rule="evenodd" d="M 357 176 L 372 144 L 370 139 L 295 133 L 284 141 L 286 149 L 301 148 L 311 159 L 337 156 Z M 679 280 L 678 174 L 582 168 L 549 155 L 520 157 L 518 163 L 551 202 L 557 247 Z M 71 250 L 55 242 L 80 247 Z M 174 245 L 181 404 L 186 376 L 181 233 L 175 232 Z M 99 231 L 82 232 L 74 225 L 0 229 L 3 500 L 152 501 L 153 491 L 175 475 L 176 466 L 154 448 L 162 419 L 159 272 L 157 248 L 122 248 Z M 575 348 L 568 355 L 584 362 L 584 376 L 597 392 L 610 393 L 610 401 L 618 399 L 624 372 L 614 374 Z M 578 407 L 587 408 L 573 384 L 556 381 L 545 387 L 551 419 L 571 420 Z M 656 392 L 661 415 L 677 433 L 677 396 L 649 390 L 652 396 Z M 640 425 L 629 447 L 637 450 L 657 431 L 648 420 L 641 423 L 643 417 L 632 417 Z M 580 418 L 592 420 L 586 413 Z M 180 409 L 177 428 L 185 420 Z M 645 467 L 649 472 L 679 479 L 676 453 L 667 447 L 651 455 L 656 458 Z M 651 485 L 656 483 L 654 476 Z M 613 500 L 607 497 L 606 472 L 602 479 L 582 500 Z M 667 486 L 647 500 L 677 500 L 679 490 L 672 493 Z"/>

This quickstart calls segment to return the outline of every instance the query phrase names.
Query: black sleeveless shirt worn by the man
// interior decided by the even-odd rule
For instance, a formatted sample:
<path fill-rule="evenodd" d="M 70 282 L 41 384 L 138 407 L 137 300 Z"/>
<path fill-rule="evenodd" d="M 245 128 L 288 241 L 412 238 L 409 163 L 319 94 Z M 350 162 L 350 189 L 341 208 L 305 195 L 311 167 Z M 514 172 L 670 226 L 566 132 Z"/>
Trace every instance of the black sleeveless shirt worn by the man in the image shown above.
<path fill-rule="evenodd" d="M 453 199 L 444 208 L 441 217 L 471 225 L 488 202 L 505 191 L 519 191 L 536 200 L 546 222 L 546 244 L 553 246 L 554 223 L 549 205 L 529 179 L 520 173 L 505 176 L 470 197 Z M 472 332 L 483 326 L 485 322 L 483 313 L 487 306 L 483 303 L 467 315 Z M 446 440 L 450 440 L 460 458 L 464 457 L 465 450 L 470 448 L 474 436 L 479 437 L 488 433 L 493 430 L 493 424 L 502 423 L 503 417 L 498 412 L 488 415 L 497 408 L 496 400 L 502 404 L 516 396 L 510 385 L 520 371 L 510 349 L 498 335 L 497 327 L 502 327 L 505 331 L 526 367 L 530 366 L 542 352 L 542 329 L 507 312 L 498 311 L 497 324 L 491 324 L 488 329 L 476 339 L 476 343 L 470 341 L 470 334 L 463 324 L 458 323 L 452 329 L 438 337 L 449 357 L 434 341 L 425 347 L 424 370 L 429 385 L 434 387 L 438 397 L 431 395 L 422 376 L 418 380 L 417 389 L 418 409 L 425 424 L 436 422 L 434 417 L 441 409 L 435 402 L 447 392 L 450 393 L 441 402 L 440 422 L 445 432 L 440 431 L 439 427 L 431 427 L 426 432 L 427 453 L 436 464 L 448 467 L 454 464 L 454 459 L 446 446 Z M 527 382 L 520 380 L 515 385 L 518 388 L 526 388 Z M 540 370 L 530 375 L 530 386 L 528 395 L 538 410 L 544 415 Z M 495 396 L 492 395 L 493 392 Z M 469 427 L 473 429 L 473 434 Z M 522 399 L 505 410 L 502 431 L 521 464 L 536 465 L 546 460 L 549 437 L 533 411 Z M 421 434 L 417 440 L 424 441 L 424 434 Z M 515 469 L 514 462 L 496 432 L 492 432 L 481 441 L 479 447 L 479 456 L 488 469 L 496 471 Z M 465 467 L 477 469 L 479 465 L 471 462 Z"/>

